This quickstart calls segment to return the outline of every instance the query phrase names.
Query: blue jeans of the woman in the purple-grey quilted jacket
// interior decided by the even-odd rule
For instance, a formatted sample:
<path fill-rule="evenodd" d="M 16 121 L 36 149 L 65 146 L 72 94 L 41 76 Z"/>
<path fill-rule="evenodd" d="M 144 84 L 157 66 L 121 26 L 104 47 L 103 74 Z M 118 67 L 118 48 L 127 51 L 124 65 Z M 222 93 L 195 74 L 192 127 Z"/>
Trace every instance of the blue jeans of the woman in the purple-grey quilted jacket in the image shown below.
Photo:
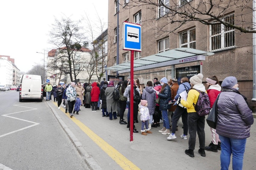
<path fill-rule="evenodd" d="M 219 139 L 221 140 L 221 170 L 228 170 L 231 153 L 233 170 L 242 170 L 246 138 L 232 139 L 219 135 Z"/>

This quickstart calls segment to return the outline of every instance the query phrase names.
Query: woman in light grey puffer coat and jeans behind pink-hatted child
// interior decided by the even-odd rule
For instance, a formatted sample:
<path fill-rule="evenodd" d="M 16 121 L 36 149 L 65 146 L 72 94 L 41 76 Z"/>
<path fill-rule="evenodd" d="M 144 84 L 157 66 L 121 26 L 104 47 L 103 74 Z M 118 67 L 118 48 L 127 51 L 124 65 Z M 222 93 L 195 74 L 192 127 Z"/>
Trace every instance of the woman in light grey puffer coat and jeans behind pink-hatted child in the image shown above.
<path fill-rule="evenodd" d="M 156 100 L 156 92 L 153 90 L 152 81 L 147 82 L 147 86 L 143 90 L 141 98 L 142 100 L 148 101 L 148 110 L 150 114 L 148 128 L 151 129 L 152 119 L 155 113 L 155 100 Z"/>

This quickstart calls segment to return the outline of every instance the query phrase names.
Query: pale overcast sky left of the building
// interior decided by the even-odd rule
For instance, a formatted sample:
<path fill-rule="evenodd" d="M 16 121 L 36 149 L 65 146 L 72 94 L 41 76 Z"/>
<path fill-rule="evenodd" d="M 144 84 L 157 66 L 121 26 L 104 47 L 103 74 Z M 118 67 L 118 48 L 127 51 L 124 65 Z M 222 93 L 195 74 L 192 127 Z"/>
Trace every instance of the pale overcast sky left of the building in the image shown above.
<path fill-rule="evenodd" d="M 54 46 L 48 44 L 50 26 L 54 16 L 78 20 L 85 13 L 96 21 L 96 10 L 99 17 L 108 22 L 108 0 L 12 0 L 1 1 L 0 8 L 0 55 L 15 59 L 20 71 L 28 71 L 32 65 L 47 59 L 47 52 Z M 43 62 L 41 63 L 43 65 Z"/>

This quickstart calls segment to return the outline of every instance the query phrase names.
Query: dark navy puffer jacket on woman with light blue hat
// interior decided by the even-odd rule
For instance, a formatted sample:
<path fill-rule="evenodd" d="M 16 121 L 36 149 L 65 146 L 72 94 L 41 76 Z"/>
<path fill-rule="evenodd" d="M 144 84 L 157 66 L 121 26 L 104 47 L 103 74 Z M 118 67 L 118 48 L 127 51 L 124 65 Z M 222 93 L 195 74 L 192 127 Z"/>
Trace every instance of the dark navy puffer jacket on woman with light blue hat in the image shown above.
<path fill-rule="evenodd" d="M 159 109 L 160 110 L 168 110 L 171 108 L 169 101 L 172 100 L 171 88 L 167 84 L 163 90 L 163 93 L 158 93 L 158 97 L 160 97 Z"/>

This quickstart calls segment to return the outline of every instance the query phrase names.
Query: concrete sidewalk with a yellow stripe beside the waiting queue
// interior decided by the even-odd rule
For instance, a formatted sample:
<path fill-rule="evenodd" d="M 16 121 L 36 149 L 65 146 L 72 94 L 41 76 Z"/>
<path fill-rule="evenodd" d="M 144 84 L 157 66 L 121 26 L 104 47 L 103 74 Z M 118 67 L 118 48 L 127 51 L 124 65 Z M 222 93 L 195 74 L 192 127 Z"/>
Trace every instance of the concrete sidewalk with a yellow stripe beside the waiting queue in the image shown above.
<path fill-rule="evenodd" d="M 191 158 L 184 153 L 185 149 L 188 149 L 188 140 L 180 137 L 183 133 L 181 121 L 176 131 L 177 138 L 171 141 L 166 139 L 169 135 L 158 132 L 163 123 L 160 123 L 158 128 L 152 128 L 152 134 L 144 136 L 140 133 L 141 122 L 139 121 L 135 123 L 139 133 L 133 133 L 133 141 L 130 142 L 130 131 L 126 125 L 119 124 L 119 117 L 116 120 L 109 120 L 108 117 L 102 117 L 100 110 L 92 112 L 90 108 L 81 106 L 79 115 L 75 114 L 70 118 L 63 107 L 59 110 L 56 103 L 44 102 L 52 108 L 60 124 L 65 125 L 62 128 L 70 130 L 69 133 L 74 135 L 69 137 L 76 139 L 74 145 L 91 169 L 220 169 L 220 151 L 218 153 L 206 151 L 206 157 L 201 157 L 198 153 L 198 138 L 194 150 L 195 157 Z M 125 116 L 127 116 L 127 110 Z M 127 122 L 127 119 L 125 121 Z M 207 123 L 205 134 L 206 146 L 208 146 L 211 142 L 211 132 Z M 247 139 L 244 154 L 244 170 L 256 167 L 255 134 L 256 128 L 252 125 L 251 137 Z M 84 152 L 81 152 L 83 149 Z M 232 162 L 230 169 L 232 169 Z"/>

